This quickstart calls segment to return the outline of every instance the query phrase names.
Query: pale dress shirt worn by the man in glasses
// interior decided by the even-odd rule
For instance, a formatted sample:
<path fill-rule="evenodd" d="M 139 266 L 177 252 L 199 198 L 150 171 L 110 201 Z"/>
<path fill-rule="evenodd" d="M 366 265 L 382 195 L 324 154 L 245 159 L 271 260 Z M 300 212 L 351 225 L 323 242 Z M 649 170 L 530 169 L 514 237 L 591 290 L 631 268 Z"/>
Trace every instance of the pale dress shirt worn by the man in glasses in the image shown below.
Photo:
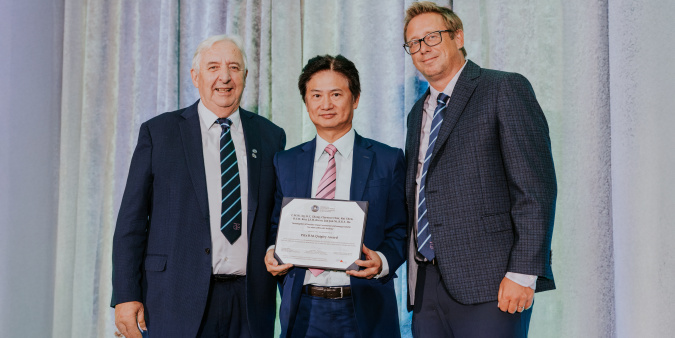
<path fill-rule="evenodd" d="M 459 79 L 459 74 L 462 73 L 464 70 L 464 67 L 466 66 L 466 62 L 464 63 L 464 66 L 455 74 L 455 76 L 450 80 L 450 83 L 443 89 L 443 93 L 448 96 L 452 96 L 452 91 L 455 89 L 455 85 L 457 84 L 457 79 Z M 420 184 L 422 183 L 421 177 L 422 177 L 422 168 L 424 166 L 424 159 L 426 158 L 427 154 L 427 148 L 429 146 L 429 134 L 431 132 L 431 122 L 433 121 L 434 118 L 434 110 L 436 110 L 436 106 L 438 106 L 438 94 L 440 92 L 436 90 L 434 87 L 429 86 L 429 96 L 427 96 L 426 100 L 424 101 L 424 114 L 422 114 L 422 132 L 420 133 L 420 152 L 417 157 L 417 177 L 415 181 L 417 182 L 417 188 L 416 188 L 416 194 L 415 194 L 415 205 L 419 205 L 419 188 Z M 415 245 L 417 246 L 417 208 L 415 208 Z M 532 276 L 532 275 L 524 275 L 520 273 L 515 273 L 515 272 L 507 272 L 506 277 L 522 286 L 529 286 L 532 289 L 536 288 L 537 284 L 537 276 Z"/>

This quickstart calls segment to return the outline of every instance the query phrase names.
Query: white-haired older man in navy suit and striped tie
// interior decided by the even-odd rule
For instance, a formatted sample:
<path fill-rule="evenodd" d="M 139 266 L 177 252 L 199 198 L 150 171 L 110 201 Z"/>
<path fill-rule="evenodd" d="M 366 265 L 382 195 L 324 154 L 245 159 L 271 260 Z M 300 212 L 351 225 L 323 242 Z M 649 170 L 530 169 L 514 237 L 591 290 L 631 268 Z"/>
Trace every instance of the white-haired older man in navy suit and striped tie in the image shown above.
<path fill-rule="evenodd" d="M 272 337 L 265 269 L 284 131 L 239 107 L 246 55 L 224 35 L 192 62 L 200 100 L 141 125 L 113 239 L 115 324 L 126 337 Z"/>

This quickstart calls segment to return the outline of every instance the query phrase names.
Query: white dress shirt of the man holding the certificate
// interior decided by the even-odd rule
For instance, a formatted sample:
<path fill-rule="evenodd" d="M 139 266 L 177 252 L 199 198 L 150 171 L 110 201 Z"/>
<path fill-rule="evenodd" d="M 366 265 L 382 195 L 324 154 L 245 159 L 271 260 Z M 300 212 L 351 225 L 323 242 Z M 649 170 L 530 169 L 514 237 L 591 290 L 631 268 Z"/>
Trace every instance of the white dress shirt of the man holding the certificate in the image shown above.
<path fill-rule="evenodd" d="M 337 152 L 335 152 L 335 167 L 336 167 L 336 178 L 335 178 L 335 199 L 336 200 L 349 200 L 349 193 L 351 190 L 352 183 L 352 167 L 354 164 L 354 138 L 356 133 L 354 129 L 350 129 L 347 134 L 343 135 L 341 138 L 333 142 Z M 312 173 L 312 198 L 316 196 L 316 191 L 319 187 L 319 182 L 323 177 L 323 174 L 328 168 L 328 159 L 330 155 L 326 152 L 326 146 L 328 146 L 328 141 L 322 139 L 319 135 L 316 136 L 316 151 L 314 154 L 314 171 Z M 373 248 L 369 248 L 373 249 Z M 382 259 L 382 272 L 375 276 L 375 278 L 380 278 L 386 276 L 389 273 L 389 265 L 387 263 L 387 258 L 384 255 L 376 251 L 376 253 Z M 326 270 L 314 276 L 309 270 L 305 273 L 304 284 L 320 285 L 320 286 L 343 286 L 349 285 L 349 275 L 344 271 L 335 271 L 335 270 Z"/>

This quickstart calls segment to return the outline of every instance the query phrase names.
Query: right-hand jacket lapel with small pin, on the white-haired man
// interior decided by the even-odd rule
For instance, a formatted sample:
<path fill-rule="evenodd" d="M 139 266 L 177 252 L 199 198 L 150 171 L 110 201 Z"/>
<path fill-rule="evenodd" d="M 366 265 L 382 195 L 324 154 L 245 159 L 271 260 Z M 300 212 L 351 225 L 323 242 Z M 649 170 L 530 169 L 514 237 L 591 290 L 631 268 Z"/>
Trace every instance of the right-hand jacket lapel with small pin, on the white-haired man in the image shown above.
<path fill-rule="evenodd" d="M 258 190 L 260 186 L 260 130 L 254 125 L 253 113 L 239 107 L 241 127 L 246 143 L 246 167 L 248 170 L 248 217 L 246 218 L 248 238 L 251 238 L 255 212 L 258 209 Z M 244 212 L 246 210 L 242 210 Z"/>

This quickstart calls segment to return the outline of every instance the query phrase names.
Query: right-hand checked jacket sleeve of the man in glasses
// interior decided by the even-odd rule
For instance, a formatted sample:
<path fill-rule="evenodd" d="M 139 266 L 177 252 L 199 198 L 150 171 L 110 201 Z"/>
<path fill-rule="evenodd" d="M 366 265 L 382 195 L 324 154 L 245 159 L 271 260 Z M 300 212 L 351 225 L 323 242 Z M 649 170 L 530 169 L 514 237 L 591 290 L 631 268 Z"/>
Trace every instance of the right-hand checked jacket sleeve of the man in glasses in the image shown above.
<path fill-rule="evenodd" d="M 548 124 L 530 83 L 512 75 L 500 83 L 497 102 L 515 229 L 507 271 L 553 278 L 550 249 L 557 183 Z"/>

